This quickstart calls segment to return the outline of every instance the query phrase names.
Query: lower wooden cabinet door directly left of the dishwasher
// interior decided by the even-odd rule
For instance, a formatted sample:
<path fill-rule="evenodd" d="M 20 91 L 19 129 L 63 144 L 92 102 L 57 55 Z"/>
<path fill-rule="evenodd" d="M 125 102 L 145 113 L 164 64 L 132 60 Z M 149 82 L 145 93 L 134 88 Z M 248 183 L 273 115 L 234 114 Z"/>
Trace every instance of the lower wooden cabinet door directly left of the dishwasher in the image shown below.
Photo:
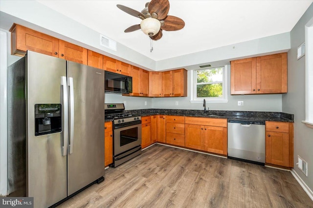
<path fill-rule="evenodd" d="M 227 155 L 227 127 L 204 126 L 204 150 Z"/>

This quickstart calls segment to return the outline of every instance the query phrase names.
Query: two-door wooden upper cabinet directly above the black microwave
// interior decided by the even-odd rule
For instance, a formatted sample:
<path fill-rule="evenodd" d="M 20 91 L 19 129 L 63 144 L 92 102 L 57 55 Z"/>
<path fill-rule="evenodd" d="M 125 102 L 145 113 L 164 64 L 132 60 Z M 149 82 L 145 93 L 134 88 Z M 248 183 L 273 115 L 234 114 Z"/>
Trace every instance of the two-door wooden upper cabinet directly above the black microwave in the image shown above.
<path fill-rule="evenodd" d="M 118 61 L 108 56 L 103 56 L 103 69 L 127 76 L 131 75 L 130 64 Z"/>

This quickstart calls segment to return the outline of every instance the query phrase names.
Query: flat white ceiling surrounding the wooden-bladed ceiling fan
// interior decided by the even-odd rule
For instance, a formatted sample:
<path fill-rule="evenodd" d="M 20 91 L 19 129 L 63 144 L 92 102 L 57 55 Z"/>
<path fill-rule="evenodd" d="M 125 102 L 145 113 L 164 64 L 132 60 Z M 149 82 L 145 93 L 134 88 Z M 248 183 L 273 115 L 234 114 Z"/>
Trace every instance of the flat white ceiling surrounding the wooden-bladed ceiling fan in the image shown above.
<path fill-rule="evenodd" d="M 313 0 L 170 0 L 168 15 L 185 21 L 153 42 L 140 30 L 124 33 L 135 18 L 116 7 L 141 11 L 148 0 L 38 0 L 154 61 L 290 32 Z"/>

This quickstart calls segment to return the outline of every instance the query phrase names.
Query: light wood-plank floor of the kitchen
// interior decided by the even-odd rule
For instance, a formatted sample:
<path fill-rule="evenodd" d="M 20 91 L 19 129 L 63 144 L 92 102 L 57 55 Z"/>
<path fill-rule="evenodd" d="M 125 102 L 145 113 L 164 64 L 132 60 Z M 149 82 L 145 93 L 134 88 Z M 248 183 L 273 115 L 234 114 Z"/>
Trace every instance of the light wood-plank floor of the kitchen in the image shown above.
<path fill-rule="evenodd" d="M 154 145 L 59 208 L 313 208 L 290 172 Z"/>

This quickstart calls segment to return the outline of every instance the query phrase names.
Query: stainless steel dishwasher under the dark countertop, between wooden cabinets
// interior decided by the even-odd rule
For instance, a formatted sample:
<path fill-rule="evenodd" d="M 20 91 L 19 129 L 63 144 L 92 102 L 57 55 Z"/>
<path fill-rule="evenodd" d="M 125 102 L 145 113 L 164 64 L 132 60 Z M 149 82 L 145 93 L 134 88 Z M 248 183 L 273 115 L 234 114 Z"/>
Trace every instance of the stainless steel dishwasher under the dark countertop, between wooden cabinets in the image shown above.
<path fill-rule="evenodd" d="M 265 164 L 265 122 L 228 121 L 228 158 Z"/>

